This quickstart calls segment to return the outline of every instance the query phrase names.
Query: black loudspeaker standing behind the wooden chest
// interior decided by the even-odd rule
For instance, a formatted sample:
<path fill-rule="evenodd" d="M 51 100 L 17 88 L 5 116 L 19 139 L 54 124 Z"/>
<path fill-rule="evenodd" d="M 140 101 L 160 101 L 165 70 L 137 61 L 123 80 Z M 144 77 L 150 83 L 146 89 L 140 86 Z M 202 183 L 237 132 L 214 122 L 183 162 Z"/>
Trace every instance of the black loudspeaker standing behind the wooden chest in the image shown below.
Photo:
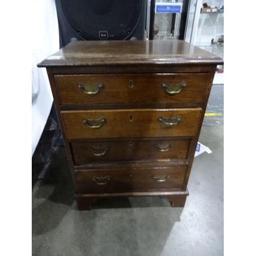
<path fill-rule="evenodd" d="M 55 0 L 60 48 L 72 40 L 143 40 L 146 0 Z"/>

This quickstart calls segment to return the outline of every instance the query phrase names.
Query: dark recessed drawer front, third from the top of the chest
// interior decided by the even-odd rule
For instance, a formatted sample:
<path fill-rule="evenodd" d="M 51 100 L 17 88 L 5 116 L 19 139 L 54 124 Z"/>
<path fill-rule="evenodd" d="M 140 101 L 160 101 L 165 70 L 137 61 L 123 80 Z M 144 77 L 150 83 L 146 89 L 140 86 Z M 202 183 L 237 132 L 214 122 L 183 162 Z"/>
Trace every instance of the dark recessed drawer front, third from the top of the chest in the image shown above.
<path fill-rule="evenodd" d="M 91 140 L 70 143 L 75 165 L 90 162 L 186 159 L 190 139 Z"/>

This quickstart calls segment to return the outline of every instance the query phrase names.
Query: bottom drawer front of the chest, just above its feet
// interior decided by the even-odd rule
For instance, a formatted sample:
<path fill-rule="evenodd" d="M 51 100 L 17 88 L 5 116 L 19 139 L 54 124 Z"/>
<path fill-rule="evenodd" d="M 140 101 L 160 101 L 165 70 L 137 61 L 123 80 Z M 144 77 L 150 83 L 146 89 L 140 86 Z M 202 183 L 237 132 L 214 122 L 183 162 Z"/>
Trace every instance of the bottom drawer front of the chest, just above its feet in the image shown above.
<path fill-rule="evenodd" d="M 180 190 L 186 166 L 76 170 L 76 193 Z"/>

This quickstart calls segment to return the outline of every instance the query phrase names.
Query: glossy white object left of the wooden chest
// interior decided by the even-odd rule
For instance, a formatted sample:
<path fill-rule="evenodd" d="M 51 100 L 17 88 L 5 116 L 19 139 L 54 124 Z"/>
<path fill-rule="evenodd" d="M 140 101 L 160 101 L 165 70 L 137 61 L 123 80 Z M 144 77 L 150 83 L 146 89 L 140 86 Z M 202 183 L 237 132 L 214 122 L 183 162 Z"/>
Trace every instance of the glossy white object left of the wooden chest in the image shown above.
<path fill-rule="evenodd" d="M 54 0 L 32 1 L 32 156 L 48 119 L 53 97 L 45 68 L 37 63 L 59 50 Z"/>

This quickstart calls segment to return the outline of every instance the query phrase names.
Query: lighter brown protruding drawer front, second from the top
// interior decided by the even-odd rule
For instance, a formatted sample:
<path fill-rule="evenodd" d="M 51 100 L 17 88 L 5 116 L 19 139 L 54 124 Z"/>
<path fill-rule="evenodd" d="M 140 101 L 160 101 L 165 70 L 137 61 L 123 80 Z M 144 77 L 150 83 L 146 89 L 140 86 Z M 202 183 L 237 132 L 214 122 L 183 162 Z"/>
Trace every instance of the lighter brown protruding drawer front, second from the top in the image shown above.
<path fill-rule="evenodd" d="M 201 108 L 62 111 L 69 139 L 195 136 Z"/>

